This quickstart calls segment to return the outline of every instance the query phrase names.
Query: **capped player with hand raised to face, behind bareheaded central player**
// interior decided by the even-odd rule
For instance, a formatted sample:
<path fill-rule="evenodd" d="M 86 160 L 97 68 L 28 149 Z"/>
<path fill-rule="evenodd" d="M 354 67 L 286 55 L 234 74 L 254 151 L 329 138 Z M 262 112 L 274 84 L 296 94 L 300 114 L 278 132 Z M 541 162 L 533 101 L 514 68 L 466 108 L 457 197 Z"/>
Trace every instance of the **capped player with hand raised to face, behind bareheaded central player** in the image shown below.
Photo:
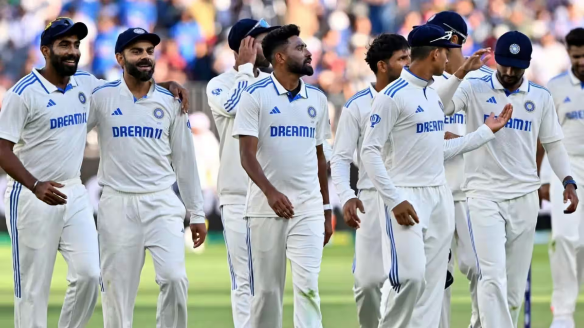
<path fill-rule="evenodd" d="M 231 276 L 231 308 L 235 328 L 249 327 L 250 301 L 244 219 L 249 177 L 241 166 L 239 141 L 231 137 L 238 109 L 235 105 L 245 88 L 270 76 L 259 70 L 270 66 L 270 62 L 263 57 L 262 40 L 268 32 L 278 27 L 270 26 L 263 19 L 242 19 L 235 23 L 227 38 L 235 53 L 235 66 L 207 84 L 207 99 L 221 142 L 217 189 Z"/>

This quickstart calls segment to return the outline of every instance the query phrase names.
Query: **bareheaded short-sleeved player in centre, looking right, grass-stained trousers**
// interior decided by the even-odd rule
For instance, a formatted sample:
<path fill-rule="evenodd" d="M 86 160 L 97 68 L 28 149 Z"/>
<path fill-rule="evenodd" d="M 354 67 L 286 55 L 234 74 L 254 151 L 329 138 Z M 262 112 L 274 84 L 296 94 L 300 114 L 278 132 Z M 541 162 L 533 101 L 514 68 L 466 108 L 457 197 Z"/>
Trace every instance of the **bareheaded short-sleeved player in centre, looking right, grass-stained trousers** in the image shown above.
<path fill-rule="evenodd" d="M 322 327 L 318 273 L 332 235 L 326 159 L 330 138 L 324 93 L 300 78 L 312 75 L 311 53 L 296 25 L 268 33 L 264 57 L 274 68 L 245 90 L 233 135 L 249 182 L 247 220 L 253 328 L 282 326 L 286 258 L 294 284 L 294 326 Z"/>

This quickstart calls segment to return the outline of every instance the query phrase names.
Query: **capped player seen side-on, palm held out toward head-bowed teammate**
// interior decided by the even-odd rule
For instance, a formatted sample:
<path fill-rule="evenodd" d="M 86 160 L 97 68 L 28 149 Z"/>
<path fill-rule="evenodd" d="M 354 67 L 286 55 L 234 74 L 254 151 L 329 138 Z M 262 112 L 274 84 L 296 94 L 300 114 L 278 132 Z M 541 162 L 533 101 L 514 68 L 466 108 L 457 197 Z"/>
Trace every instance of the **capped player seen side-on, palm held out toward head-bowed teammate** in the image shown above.
<path fill-rule="evenodd" d="M 363 166 L 385 206 L 384 243 L 390 250 L 384 266 L 392 290 L 380 327 L 438 326 L 454 232 L 444 159 L 484 143 L 461 150 L 457 143 L 462 139 L 444 141 L 442 102 L 428 86 L 433 75 L 442 75 L 448 49 L 460 48 L 450 37 L 434 25 L 412 30 L 412 64 L 374 97 L 361 145 Z M 472 55 L 457 76 L 464 78 L 465 72 L 481 67 L 480 57 L 487 52 Z M 503 117 L 510 117 L 510 110 L 506 106 Z M 492 116 L 499 128 L 505 124 L 503 117 Z M 492 131 L 484 127 L 482 133 L 486 138 Z"/>

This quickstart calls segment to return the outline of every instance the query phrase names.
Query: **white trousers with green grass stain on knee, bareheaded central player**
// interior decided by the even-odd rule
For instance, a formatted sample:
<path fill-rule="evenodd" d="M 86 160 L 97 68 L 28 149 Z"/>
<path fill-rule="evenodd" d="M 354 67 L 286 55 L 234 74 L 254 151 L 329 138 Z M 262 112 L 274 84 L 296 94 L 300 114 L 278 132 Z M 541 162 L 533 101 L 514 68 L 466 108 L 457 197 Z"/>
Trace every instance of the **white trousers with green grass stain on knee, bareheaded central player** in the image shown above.
<path fill-rule="evenodd" d="M 324 244 L 324 213 L 291 219 L 248 219 L 251 326 L 280 328 L 286 258 L 294 286 L 294 327 L 322 328 L 318 274 Z"/>

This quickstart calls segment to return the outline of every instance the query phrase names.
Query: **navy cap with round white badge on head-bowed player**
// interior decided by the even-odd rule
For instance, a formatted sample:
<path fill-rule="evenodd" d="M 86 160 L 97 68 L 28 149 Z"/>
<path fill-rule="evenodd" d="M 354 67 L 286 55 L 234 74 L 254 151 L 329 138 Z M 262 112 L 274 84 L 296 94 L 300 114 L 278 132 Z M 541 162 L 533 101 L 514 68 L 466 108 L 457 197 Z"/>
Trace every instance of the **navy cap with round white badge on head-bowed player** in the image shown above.
<path fill-rule="evenodd" d="M 511 31 L 503 34 L 495 45 L 495 61 L 507 67 L 528 68 L 531 61 L 531 40 L 525 34 Z"/>

